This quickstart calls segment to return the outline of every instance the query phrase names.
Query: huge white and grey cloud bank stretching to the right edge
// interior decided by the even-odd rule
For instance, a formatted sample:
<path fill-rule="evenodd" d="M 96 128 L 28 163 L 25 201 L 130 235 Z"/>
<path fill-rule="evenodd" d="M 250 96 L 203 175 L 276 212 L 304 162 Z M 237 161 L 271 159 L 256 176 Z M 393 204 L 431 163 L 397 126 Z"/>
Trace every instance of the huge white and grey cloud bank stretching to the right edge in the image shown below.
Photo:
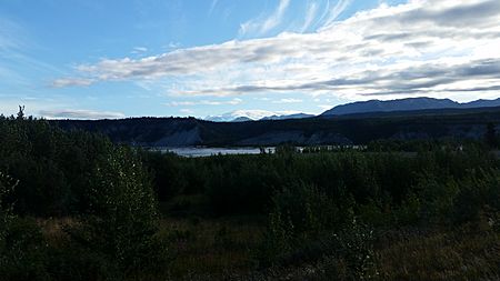
<path fill-rule="evenodd" d="M 299 92 L 349 100 L 429 96 L 460 101 L 498 92 L 500 1 L 413 0 L 337 21 L 348 2 L 338 2 L 326 17 L 330 24 L 313 33 L 106 59 L 78 70 L 87 79 L 83 86 L 167 80 L 166 90 L 177 96 Z M 288 7 L 288 1 L 280 3 Z"/>

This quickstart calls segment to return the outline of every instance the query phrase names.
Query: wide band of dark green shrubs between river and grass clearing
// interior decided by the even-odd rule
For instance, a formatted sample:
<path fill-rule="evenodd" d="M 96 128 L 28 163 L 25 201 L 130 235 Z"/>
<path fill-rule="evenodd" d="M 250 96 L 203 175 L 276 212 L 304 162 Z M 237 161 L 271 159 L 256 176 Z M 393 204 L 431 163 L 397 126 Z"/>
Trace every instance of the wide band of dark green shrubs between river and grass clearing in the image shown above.
<path fill-rule="evenodd" d="M 349 220 L 348 213 L 370 217 L 377 224 L 453 223 L 466 220 L 464 213 L 477 217 L 486 205 L 499 208 L 500 162 L 481 144 L 459 149 L 451 143 L 418 153 L 348 150 L 193 159 L 146 153 L 143 158 L 156 171 L 160 201 L 179 200 L 172 205 L 176 211 L 182 207 L 189 211 L 189 202 L 181 202 L 189 194 L 203 194 L 206 211 L 216 214 L 267 213 L 273 205 L 287 204 L 302 210 L 297 207 L 313 204 L 321 210 L 318 213 L 330 208 L 331 215 L 324 217 L 337 218 L 338 223 Z M 168 172 L 161 172 L 164 167 Z M 479 204 L 467 207 L 473 201 Z M 344 214 L 334 214 L 337 210 Z"/>

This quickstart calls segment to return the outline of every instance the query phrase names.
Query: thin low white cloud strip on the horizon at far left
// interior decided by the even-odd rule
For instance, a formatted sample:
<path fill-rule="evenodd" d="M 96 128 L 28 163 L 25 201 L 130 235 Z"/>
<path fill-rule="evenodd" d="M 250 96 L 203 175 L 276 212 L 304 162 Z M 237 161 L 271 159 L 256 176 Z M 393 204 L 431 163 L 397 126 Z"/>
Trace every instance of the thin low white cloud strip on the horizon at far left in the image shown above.
<path fill-rule="evenodd" d="M 121 112 L 94 111 L 84 109 L 61 109 L 61 110 L 40 110 L 39 116 L 47 119 L 120 119 L 124 118 Z"/>

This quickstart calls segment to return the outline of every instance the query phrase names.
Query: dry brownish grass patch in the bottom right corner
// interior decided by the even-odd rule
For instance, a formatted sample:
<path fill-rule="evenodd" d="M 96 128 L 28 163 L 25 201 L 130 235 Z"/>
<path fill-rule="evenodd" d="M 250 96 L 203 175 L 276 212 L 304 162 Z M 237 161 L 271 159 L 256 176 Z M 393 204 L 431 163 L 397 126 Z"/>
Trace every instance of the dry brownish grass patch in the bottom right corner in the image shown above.
<path fill-rule="evenodd" d="M 382 280 L 500 280 L 500 235 L 492 231 L 401 237 L 377 254 Z"/>

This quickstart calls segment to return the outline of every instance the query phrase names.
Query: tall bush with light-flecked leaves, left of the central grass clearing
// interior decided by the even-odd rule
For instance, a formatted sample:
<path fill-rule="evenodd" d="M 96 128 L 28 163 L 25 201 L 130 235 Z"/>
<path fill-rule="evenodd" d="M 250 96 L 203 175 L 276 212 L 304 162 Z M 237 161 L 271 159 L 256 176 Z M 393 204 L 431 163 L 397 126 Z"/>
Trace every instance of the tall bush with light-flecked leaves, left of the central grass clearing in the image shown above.
<path fill-rule="evenodd" d="M 77 229 L 70 229 L 73 240 L 104 254 L 126 277 L 158 265 L 166 252 L 154 237 L 157 200 L 134 152 L 126 147 L 110 148 L 89 192 L 90 214 Z"/>

